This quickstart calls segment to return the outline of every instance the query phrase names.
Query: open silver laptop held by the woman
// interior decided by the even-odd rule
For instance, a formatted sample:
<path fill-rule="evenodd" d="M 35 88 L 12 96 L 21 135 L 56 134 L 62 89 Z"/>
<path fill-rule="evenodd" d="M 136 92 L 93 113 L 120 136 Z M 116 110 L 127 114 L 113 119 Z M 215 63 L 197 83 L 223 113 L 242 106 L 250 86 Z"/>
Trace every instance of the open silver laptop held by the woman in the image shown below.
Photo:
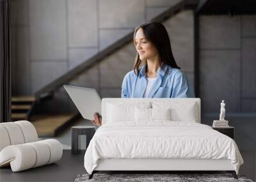
<path fill-rule="evenodd" d="M 95 89 L 67 85 L 63 87 L 84 119 L 94 119 L 95 112 L 101 114 L 101 98 Z"/>

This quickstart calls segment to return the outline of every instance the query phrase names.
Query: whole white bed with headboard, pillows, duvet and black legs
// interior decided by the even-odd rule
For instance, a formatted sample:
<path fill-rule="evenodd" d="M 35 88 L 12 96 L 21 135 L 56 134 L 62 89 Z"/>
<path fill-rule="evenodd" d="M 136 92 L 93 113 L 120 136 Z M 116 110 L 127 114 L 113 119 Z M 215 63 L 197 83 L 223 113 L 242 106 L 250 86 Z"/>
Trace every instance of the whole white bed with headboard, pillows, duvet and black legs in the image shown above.
<path fill-rule="evenodd" d="M 227 171 L 243 158 L 230 137 L 200 124 L 200 98 L 104 98 L 84 167 L 99 171 Z"/>

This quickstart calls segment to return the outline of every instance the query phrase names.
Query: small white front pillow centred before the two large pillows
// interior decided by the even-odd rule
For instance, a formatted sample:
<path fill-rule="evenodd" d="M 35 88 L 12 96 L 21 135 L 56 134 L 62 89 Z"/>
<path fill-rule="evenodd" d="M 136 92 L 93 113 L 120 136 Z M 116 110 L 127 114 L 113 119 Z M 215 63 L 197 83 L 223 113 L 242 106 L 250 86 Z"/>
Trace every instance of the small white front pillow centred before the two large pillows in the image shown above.
<path fill-rule="evenodd" d="M 170 120 L 170 109 L 135 109 L 136 121 L 154 121 L 154 120 Z"/>

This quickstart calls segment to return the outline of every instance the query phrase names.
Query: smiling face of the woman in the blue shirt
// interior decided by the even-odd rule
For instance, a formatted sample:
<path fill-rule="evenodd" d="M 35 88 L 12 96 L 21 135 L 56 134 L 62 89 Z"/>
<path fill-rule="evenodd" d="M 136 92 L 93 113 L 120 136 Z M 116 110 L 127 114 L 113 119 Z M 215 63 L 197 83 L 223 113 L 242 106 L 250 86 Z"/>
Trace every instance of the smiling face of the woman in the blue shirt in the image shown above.
<path fill-rule="evenodd" d="M 152 59 L 158 54 L 156 47 L 148 42 L 141 28 L 135 34 L 135 47 L 141 60 Z"/>

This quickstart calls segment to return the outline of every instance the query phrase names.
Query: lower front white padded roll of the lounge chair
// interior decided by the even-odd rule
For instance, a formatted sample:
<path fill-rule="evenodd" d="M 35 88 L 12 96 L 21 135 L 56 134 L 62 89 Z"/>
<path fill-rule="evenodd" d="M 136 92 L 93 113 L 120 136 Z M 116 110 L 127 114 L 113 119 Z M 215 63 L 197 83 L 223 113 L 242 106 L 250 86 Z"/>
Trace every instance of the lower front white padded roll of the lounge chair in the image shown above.
<path fill-rule="evenodd" d="M 18 172 L 56 162 L 62 154 L 61 143 L 54 139 L 7 146 L 0 152 L 0 166 L 10 163 L 12 171 Z"/>

